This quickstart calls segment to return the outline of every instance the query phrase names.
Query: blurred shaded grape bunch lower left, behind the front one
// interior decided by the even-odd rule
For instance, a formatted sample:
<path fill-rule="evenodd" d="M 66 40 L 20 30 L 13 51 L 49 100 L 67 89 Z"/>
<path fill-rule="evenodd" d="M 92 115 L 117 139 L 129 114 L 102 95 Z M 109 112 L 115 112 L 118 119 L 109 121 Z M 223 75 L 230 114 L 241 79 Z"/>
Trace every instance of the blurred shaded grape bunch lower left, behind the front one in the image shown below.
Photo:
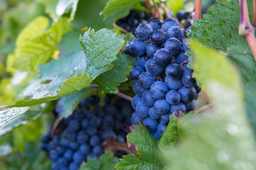
<path fill-rule="evenodd" d="M 54 163 L 52 169 L 76 170 L 87 158 L 97 159 L 104 149 L 101 143 L 107 138 L 125 142 L 122 126 L 131 125 L 131 104 L 124 99 L 106 96 L 99 105 L 99 97 L 84 99 L 70 117 L 62 120 L 54 137 L 51 131 L 42 136 L 41 148 Z M 52 126 L 51 126 L 52 129 Z"/>

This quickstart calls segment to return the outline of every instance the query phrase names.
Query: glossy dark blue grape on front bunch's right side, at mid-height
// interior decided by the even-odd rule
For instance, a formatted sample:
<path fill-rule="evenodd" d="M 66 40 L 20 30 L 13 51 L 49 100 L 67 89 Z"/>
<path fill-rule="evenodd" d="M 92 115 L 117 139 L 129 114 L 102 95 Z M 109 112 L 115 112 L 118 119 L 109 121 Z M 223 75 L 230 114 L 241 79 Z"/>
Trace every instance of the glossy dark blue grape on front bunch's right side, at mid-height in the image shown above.
<path fill-rule="evenodd" d="M 165 69 L 165 74 L 173 80 L 177 80 L 183 74 L 182 67 L 180 67 L 179 64 L 175 63 L 169 64 Z"/>

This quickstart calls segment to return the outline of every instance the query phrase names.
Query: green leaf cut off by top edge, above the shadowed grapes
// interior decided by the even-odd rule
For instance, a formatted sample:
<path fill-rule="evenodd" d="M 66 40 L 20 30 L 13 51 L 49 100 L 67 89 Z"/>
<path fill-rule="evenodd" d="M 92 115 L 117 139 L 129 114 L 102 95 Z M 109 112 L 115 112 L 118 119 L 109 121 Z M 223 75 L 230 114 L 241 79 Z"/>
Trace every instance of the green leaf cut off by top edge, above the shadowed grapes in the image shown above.
<path fill-rule="evenodd" d="M 127 6 L 140 2 L 143 2 L 143 0 L 111 0 L 100 14 L 106 15 L 105 18 L 108 18 L 117 11 L 123 10 Z"/>

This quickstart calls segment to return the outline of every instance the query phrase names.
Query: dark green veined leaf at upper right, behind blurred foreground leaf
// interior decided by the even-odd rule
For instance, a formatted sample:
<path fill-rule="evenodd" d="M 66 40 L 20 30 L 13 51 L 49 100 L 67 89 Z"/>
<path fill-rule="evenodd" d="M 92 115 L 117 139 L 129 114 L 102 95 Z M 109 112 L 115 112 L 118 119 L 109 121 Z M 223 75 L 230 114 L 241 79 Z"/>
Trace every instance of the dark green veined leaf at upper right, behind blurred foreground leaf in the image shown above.
<path fill-rule="evenodd" d="M 252 7 L 252 1 L 248 1 L 251 19 Z M 222 50 L 227 53 L 228 59 L 236 64 L 243 78 L 248 120 L 256 133 L 256 62 L 246 39 L 238 34 L 239 9 L 238 0 L 225 4 L 216 1 L 208 15 L 204 15 L 202 20 L 195 20 L 190 37 L 211 48 Z M 220 74 L 221 77 L 222 75 Z"/>

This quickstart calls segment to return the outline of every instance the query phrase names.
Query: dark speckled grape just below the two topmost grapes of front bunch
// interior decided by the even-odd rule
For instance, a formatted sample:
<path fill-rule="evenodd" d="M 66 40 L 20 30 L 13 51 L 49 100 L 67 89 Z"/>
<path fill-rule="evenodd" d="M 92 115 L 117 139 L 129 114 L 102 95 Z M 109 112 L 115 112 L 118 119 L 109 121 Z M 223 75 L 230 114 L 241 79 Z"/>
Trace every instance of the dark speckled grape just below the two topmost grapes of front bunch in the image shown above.
<path fill-rule="evenodd" d="M 157 29 L 150 36 L 152 44 L 156 46 L 162 46 L 166 39 L 168 39 L 168 36 L 164 29 Z"/>

